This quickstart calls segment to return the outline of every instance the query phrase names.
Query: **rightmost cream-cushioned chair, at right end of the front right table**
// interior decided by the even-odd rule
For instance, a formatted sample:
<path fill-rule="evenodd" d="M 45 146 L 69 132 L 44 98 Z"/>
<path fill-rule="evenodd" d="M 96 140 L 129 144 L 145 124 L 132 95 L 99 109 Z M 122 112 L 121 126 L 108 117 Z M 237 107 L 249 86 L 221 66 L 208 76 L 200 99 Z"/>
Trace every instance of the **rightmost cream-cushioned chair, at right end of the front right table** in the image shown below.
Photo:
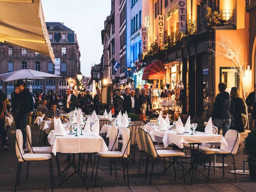
<path fill-rule="evenodd" d="M 236 166 L 235 166 L 235 158 L 233 155 L 236 154 L 238 151 L 241 136 L 238 131 L 230 129 L 227 131 L 224 138 L 227 141 L 227 145 L 228 145 L 227 147 L 221 147 L 219 149 L 218 148 L 200 148 L 199 147 L 199 151 L 201 153 L 210 155 L 207 182 L 209 181 L 211 159 L 213 158 L 214 154 L 222 155 L 223 177 L 225 176 L 224 175 L 224 154 L 231 155 L 233 157 L 235 180 L 236 180 Z"/>

